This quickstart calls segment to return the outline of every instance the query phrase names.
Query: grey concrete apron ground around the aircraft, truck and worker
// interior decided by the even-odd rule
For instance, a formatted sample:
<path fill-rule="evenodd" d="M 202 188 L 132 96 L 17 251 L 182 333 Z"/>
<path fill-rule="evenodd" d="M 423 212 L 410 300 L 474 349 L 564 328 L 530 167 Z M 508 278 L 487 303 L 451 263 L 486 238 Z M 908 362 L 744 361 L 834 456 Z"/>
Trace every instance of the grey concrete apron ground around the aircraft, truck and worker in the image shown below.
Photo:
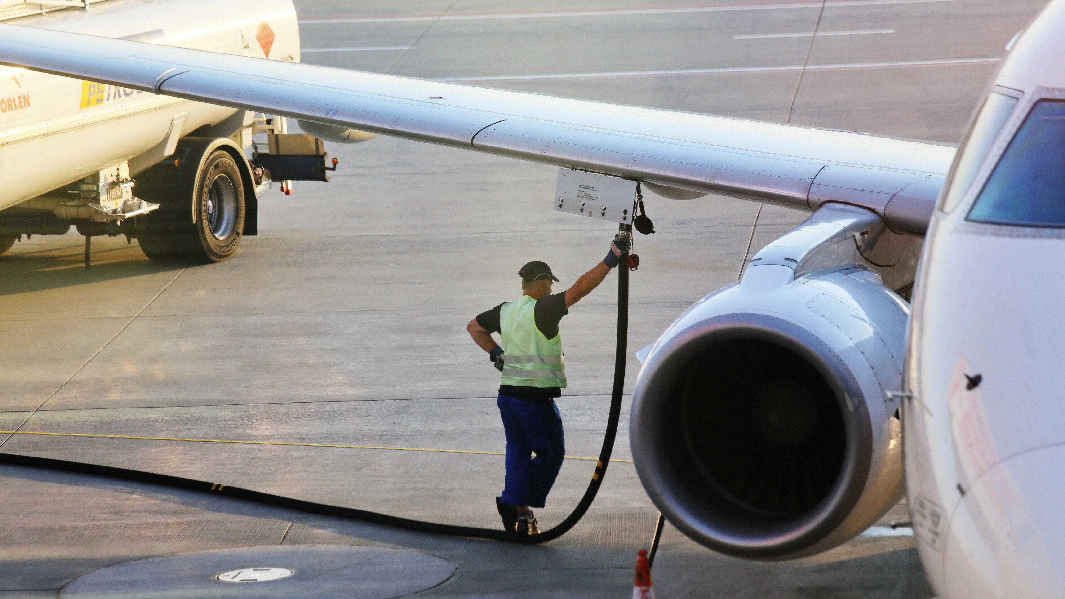
<path fill-rule="evenodd" d="M 1043 3 L 867 0 L 822 12 L 785 2 L 301 0 L 297 12 L 307 63 L 767 120 L 790 112 L 796 124 L 955 143 L 994 59 Z M 794 35 L 815 27 L 834 35 Z M 0 433 L 0 451 L 497 525 L 497 373 L 464 325 L 519 293 L 515 272 L 529 259 L 548 262 L 564 289 L 605 254 L 613 227 L 553 212 L 551 167 L 383 137 L 328 150 L 341 160 L 332 182 L 268 192 L 260 236 L 224 263 L 155 264 L 135 242 L 96 238 L 85 271 L 73 234 L 36 237 L 0 257 L 0 431 L 18 431 Z M 804 217 L 766 206 L 755 222 L 757 205 L 725 197 L 646 200 L 658 232 L 635 248 L 634 352 L 734 281 L 749 240 L 753 254 Z M 605 424 L 615 286 L 611 276 L 562 323 L 571 387 L 559 405 L 577 458 L 597 454 Z M 153 439 L 71 436 L 93 434 Z M 623 419 L 623 460 L 626 439 Z M 323 444 L 408 449 L 313 447 Z M 567 460 L 542 522 L 568 513 L 593 466 Z M 543 547 L 0 467 L 0 599 L 54 597 L 94 571 L 104 573 L 93 581 L 127 580 L 100 568 L 134 560 L 277 545 L 392 548 L 414 569 L 410 552 L 454 563 L 426 596 L 625 597 L 654 517 L 625 462 L 610 467 L 586 520 Z M 884 528 L 905 517 L 899 505 L 868 534 L 792 563 L 724 557 L 667 527 L 656 592 L 925 599 L 912 537 Z M 79 584 L 69 588 L 88 583 Z M 300 584 L 314 596 L 313 581 Z M 187 596 L 210 596 L 196 593 Z"/>

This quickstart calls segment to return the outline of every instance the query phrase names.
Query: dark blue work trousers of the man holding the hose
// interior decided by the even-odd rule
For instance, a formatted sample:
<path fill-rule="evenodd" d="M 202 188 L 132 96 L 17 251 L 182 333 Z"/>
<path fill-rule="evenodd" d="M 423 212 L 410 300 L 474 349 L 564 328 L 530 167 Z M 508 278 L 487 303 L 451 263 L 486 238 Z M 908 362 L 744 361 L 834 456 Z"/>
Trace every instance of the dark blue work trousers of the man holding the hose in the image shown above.
<path fill-rule="evenodd" d="M 566 454 L 558 406 L 554 401 L 528 402 L 503 394 L 496 405 L 507 434 L 503 503 L 543 507 Z"/>

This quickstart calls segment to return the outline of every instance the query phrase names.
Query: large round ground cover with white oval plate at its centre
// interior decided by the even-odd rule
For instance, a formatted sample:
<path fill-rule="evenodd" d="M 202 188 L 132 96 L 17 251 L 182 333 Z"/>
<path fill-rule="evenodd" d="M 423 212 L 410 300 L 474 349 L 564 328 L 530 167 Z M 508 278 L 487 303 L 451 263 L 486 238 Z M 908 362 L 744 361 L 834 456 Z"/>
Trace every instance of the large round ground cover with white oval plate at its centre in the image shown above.
<path fill-rule="evenodd" d="M 455 564 L 409 549 L 273 545 L 116 564 L 68 582 L 60 597 L 388 599 L 432 588 L 454 574 Z"/>

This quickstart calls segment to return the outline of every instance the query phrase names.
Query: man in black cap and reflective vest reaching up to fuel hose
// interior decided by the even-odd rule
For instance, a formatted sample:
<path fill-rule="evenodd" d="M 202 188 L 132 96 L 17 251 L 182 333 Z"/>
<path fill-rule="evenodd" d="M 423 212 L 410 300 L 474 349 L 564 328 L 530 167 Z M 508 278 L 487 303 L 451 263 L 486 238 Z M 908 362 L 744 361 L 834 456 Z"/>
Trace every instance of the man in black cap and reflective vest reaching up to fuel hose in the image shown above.
<path fill-rule="evenodd" d="M 570 306 L 603 282 L 627 248 L 627 233 L 619 234 L 602 262 L 554 295 L 551 285 L 558 279 L 551 266 L 534 260 L 518 271 L 521 298 L 481 312 L 466 325 L 474 342 L 503 373 L 496 405 L 507 437 L 507 474 L 495 504 L 507 531 L 540 532 L 529 507 L 544 506 L 562 467 L 566 440 L 555 398 L 566 387 L 566 360 L 558 323 Z M 499 334 L 502 346 L 493 333 Z"/>

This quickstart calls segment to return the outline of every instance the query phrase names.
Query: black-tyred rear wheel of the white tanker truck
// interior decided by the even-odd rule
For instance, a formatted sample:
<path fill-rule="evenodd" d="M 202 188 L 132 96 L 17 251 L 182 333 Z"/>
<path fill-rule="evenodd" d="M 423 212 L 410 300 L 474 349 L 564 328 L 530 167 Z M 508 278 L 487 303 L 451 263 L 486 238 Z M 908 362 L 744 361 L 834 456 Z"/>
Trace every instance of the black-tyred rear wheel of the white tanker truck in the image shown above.
<path fill-rule="evenodd" d="M 173 168 L 170 168 L 173 172 Z M 149 175 L 151 177 L 151 175 Z M 220 262 L 233 256 L 244 230 L 244 181 L 233 157 L 224 149 L 208 156 L 196 174 L 192 198 L 186 185 L 146 196 L 160 205 L 137 225 L 137 241 L 152 260 Z"/>

